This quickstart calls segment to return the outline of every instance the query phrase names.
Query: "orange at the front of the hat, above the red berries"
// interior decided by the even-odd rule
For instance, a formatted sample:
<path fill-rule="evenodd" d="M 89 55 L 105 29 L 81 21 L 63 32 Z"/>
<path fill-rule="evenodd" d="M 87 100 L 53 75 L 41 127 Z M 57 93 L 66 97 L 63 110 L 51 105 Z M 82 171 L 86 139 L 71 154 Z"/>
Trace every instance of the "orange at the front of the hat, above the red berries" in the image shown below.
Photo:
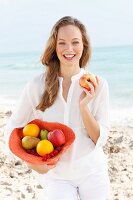
<path fill-rule="evenodd" d="M 36 151 L 40 156 L 49 154 L 54 150 L 53 144 L 49 140 L 41 140 L 36 146 Z"/>

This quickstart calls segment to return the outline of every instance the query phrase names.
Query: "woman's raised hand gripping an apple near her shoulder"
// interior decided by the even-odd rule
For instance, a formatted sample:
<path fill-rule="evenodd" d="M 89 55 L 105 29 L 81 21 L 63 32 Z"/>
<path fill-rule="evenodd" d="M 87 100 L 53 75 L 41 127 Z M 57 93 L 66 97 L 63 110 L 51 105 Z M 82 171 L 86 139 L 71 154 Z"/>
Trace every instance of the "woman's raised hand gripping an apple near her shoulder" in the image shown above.
<path fill-rule="evenodd" d="M 97 88 L 99 86 L 99 78 L 96 76 L 97 82 L 88 82 L 88 85 L 90 87 L 90 91 L 83 88 L 83 92 L 80 95 L 80 107 L 86 106 L 91 99 L 96 95 Z"/>

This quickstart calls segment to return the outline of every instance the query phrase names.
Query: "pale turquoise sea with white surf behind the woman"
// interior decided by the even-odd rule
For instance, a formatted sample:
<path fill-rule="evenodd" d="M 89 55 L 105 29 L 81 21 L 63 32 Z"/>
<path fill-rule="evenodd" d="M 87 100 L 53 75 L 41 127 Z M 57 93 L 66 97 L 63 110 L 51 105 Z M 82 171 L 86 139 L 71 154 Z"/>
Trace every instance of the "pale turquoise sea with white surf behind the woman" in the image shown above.
<path fill-rule="evenodd" d="M 26 85 L 44 72 L 41 51 L 0 53 L 0 105 L 12 110 Z M 133 127 L 133 46 L 92 48 L 87 70 L 109 84 L 113 123 Z"/>

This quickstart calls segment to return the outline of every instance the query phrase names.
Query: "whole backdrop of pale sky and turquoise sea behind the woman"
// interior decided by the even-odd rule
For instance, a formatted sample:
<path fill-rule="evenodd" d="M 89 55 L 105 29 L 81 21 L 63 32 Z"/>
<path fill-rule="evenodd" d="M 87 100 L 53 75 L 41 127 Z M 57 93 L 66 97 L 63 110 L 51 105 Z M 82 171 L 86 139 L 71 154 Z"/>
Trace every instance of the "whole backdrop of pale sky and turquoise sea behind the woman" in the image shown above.
<path fill-rule="evenodd" d="M 87 68 L 109 83 L 111 120 L 133 126 L 132 0 L 0 0 L 0 105 L 12 110 L 25 84 L 44 71 L 40 57 L 65 15 L 88 30 Z"/>

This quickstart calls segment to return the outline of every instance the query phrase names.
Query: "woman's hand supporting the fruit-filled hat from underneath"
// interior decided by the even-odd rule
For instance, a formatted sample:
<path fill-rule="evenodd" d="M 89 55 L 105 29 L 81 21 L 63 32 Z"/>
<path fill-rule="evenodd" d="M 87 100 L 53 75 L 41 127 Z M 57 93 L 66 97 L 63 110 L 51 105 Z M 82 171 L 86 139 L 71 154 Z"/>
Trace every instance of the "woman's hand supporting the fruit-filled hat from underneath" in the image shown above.
<path fill-rule="evenodd" d="M 32 170 L 35 170 L 36 172 L 38 172 L 39 174 L 45 174 L 47 173 L 50 169 L 53 169 L 56 165 L 34 165 L 34 164 L 31 164 L 31 163 L 27 163 L 26 162 L 26 165 L 32 169 Z"/>

